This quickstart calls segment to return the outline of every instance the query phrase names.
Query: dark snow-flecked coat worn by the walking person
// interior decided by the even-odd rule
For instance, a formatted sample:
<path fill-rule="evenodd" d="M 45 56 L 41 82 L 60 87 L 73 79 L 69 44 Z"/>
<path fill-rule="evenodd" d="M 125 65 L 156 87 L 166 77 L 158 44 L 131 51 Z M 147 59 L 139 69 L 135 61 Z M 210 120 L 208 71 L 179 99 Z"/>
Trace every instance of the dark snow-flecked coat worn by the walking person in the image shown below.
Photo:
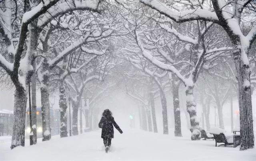
<path fill-rule="evenodd" d="M 114 120 L 113 116 L 102 116 L 100 119 L 99 127 L 102 128 L 101 131 L 101 138 L 114 138 L 114 127 L 120 132 L 123 131 L 117 125 L 116 121 Z"/>

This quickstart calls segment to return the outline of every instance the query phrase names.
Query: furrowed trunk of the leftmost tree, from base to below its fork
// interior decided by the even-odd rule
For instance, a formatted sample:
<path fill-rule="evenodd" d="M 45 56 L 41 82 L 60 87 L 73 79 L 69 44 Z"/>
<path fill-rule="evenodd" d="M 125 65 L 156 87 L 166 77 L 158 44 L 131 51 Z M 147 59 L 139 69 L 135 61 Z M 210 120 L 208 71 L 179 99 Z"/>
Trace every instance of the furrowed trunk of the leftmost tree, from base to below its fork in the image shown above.
<path fill-rule="evenodd" d="M 17 88 L 17 87 L 16 87 Z M 25 126 L 26 126 L 26 105 L 27 92 L 20 87 L 14 93 L 14 122 L 12 127 L 11 149 L 17 146 L 25 146 Z"/>

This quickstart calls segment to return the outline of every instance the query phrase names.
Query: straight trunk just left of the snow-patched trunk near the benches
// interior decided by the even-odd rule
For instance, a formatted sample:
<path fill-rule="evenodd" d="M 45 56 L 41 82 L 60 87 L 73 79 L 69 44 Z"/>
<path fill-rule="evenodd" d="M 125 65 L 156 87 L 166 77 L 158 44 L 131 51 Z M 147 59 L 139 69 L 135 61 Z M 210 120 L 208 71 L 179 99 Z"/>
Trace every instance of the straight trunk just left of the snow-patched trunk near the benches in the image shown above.
<path fill-rule="evenodd" d="M 174 136 L 182 137 L 180 122 L 179 84 L 176 84 L 175 81 L 172 81 L 172 99 L 174 111 Z"/>

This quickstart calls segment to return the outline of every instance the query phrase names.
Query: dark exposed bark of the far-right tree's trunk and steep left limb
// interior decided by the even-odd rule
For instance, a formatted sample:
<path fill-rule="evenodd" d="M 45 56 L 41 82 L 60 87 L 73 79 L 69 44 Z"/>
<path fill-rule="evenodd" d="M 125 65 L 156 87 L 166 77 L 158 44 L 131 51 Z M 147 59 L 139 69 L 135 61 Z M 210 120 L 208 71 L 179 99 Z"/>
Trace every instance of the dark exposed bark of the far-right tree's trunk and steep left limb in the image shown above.
<path fill-rule="evenodd" d="M 249 3 L 250 1 L 248 1 Z M 233 46 L 233 58 L 236 66 L 236 78 L 238 80 L 238 95 L 239 95 L 239 111 L 240 111 L 240 136 L 241 136 L 241 144 L 240 150 L 246 150 L 249 148 L 254 148 L 254 132 L 253 132 L 253 119 L 252 119 L 252 97 L 251 97 L 251 88 L 250 88 L 250 69 L 249 64 L 244 63 L 243 60 L 246 60 L 245 57 L 248 56 L 248 52 L 250 46 L 252 45 L 251 40 L 249 42 L 249 46 L 245 44 L 244 38 L 242 38 L 239 34 L 233 32 L 230 28 L 228 21 L 224 18 L 221 7 L 217 0 L 212 0 L 212 5 L 216 12 L 216 15 L 219 19 L 219 24 L 224 28 Z M 240 20 L 242 8 L 238 4 L 236 7 L 238 9 L 234 13 L 235 17 Z M 244 44 L 245 43 L 245 44 Z M 242 46 L 242 44 L 244 44 Z M 242 51 L 244 53 L 242 53 Z M 242 56 L 244 54 L 244 56 Z M 248 59 L 248 58 L 247 58 Z M 249 63 L 249 62 L 248 62 Z"/>

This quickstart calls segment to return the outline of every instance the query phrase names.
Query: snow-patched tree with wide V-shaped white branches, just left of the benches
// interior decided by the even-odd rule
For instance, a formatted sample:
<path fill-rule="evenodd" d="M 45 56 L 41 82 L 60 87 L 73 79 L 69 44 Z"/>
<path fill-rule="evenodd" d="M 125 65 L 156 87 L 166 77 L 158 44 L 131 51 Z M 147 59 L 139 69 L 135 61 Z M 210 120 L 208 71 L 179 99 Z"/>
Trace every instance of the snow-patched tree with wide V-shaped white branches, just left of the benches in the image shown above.
<path fill-rule="evenodd" d="M 169 32 L 170 34 L 176 36 L 181 42 L 184 43 L 184 47 L 181 48 L 182 50 L 180 52 L 176 53 L 175 50 L 171 50 L 170 52 L 172 55 L 174 55 L 174 58 L 178 57 L 181 59 L 176 60 L 174 58 L 170 58 L 168 50 L 164 47 L 166 47 L 166 44 L 168 43 L 171 44 L 171 41 L 167 42 L 166 40 L 162 40 L 164 39 L 164 36 L 162 36 L 162 38 L 160 39 L 154 40 L 155 42 L 158 42 L 160 46 L 153 45 L 151 48 L 149 48 L 146 44 L 148 40 L 146 40 L 146 36 L 144 36 L 145 31 L 142 25 L 140 25 L 140 28 L 136 27 L 134 33 L 131 33 L 133 34 L 134 39 L 136 40 L 136 44 L 144 58 L 152 62 L 152 64 L 154 64 L 158 68 L 174 73 L 177 78 L 186 86 L 187 111 L 190 115 L 190 131 L 192 132 L 191 139 L 197 140 L 200 139 L 201 133 L 199 130 L 199 121 L 196 116 L 196 104 L 193 97 L 194 83 L 196 82 L 200 70 L 202 69 L 206 60 L 211 59 L 212 56 L 215 57 L 222 54 L 222 52 L 227 51 L 228 48 L 224 46 L 222 47 L 220 45 L 218 45 L 218 47 L 215 47 L 216 43 L 208 44 L 209 41 L 206 41 L 210 39 L 209 35 L 207 35 L 206 32 L 210 29 L 212 23 L 206 24 L 206 22 L 198 21 L 196 24 L 190 26 L 190 29 L 187 28 L 187 30 L 194 32 L 191 35 L 196 34 L 197 31 L 198 35 L 196 36 L 196 38 L 194 38 L 194 36 L 191 36 L 190 34 L 188 34 L 188 36 L 182 35 L 174 28 L 174 25 L 172 25 L 170 21 L 167 22 L 171 24 L 170 28 L 168 28 L 168 26 L 165 26 L 164 24 L 160 24 L 160 27 Z M 205 25 L 202 26 L 200 25 L 201 23 Z M 135 26 L 138 26 L 140 23 L 133 22 L 133 24 L 135 24 Z M 216 35 L 218 36 L 218 34 Z M 163 44 L 162 42 L 166 44 Z M 158 52 L 156 52 L 155 49 Z M 184 52 L 187 54 L 191 53 L 191 57 L 182 57 L 181 55 Z M 193 64 L 190 63 L 191 59 L 193 59 Z M 174 60 L 176 60 L 176 62 Z M 182 66 L 182 64 L 184 64 L 184 66 Z M 193 68 L 191 68 L 191 66 Z M 179 71 L 178 69 L 181 67 L 185 67 L 186 70 Z"/>

